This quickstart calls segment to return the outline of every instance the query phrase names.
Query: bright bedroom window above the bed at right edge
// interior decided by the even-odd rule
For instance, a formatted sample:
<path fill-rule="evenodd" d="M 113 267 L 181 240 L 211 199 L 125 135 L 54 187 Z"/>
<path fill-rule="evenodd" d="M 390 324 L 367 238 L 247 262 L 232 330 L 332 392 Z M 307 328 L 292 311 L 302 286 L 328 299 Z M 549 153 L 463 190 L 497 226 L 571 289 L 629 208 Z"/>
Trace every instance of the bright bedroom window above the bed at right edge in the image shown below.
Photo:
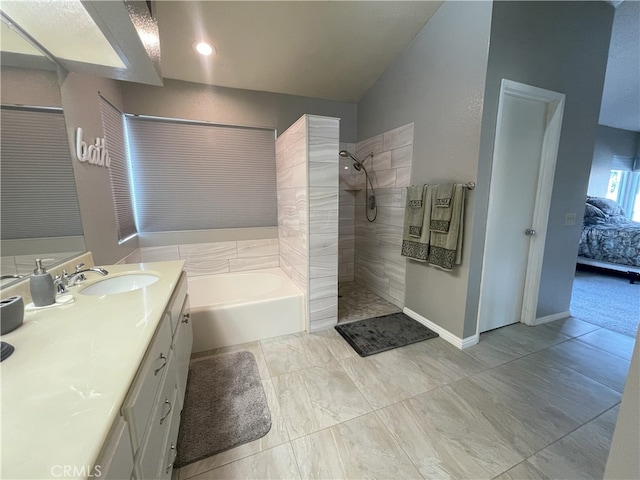
<path fill-rule="evenodd" d="M 618 202 L 628 218 L 640 222 L 640 172 L 633 171 L 634 159 L 615 156 L 613 167 L 606 197 Z"/>

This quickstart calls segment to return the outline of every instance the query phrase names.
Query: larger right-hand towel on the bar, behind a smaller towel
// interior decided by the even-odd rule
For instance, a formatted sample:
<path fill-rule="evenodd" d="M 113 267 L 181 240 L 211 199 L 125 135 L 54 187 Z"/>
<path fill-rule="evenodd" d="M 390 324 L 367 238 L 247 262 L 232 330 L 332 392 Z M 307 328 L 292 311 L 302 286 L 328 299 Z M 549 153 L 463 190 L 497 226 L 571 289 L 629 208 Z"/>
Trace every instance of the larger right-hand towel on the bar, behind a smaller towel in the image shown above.
<path fill-rule="evenodd" d="M 436 210 L 434 208 L 434 210 Z M 431 232 L 429 265 L 451 271 L 462 261 L 462 235 L 464 225 L 464 187 L 454 186 L 451 202 L 451 224 L 447 233 Z"/>

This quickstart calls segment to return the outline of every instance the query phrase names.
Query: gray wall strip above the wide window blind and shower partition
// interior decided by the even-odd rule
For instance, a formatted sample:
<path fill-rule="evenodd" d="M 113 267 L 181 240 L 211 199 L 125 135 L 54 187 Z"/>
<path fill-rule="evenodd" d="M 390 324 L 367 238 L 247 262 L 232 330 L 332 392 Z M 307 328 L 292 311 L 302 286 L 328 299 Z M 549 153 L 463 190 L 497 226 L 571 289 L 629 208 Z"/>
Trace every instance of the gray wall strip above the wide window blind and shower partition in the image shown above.
<path fill-rule="evenodd" d="M 231 125 L 276 128 L 283 133 L 305 113 L 340 118 L 340 140 L 356 141 L 353 103 L 215 87 L 165 79 L 164 87 L 122 83 L 127 113 Z"/>

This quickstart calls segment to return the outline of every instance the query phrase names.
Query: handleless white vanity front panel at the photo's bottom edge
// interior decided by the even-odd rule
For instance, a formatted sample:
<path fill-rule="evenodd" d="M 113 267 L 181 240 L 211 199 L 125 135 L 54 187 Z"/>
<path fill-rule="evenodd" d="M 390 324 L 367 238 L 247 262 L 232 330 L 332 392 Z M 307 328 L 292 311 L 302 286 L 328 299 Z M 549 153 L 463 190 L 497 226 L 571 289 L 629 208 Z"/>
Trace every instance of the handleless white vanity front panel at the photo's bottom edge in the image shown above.
<path fill-rule="evenodd" d="M 123 480 L 133 473 L 133 451 L 127 424 L 122 417 L 116 418 L 102 447 L 93 476 L 101 479 Z"/>

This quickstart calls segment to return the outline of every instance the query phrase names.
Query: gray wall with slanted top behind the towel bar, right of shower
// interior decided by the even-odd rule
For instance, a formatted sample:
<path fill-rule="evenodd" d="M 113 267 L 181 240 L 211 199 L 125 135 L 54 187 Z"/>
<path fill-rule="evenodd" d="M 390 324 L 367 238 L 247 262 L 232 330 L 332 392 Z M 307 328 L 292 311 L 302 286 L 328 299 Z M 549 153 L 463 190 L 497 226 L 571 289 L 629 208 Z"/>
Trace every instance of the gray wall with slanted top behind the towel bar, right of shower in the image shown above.
<path fill-rule="evenodd" d="M 490 2 L 445 2 L 358 103 L 359 140 L 415 122 L 413 184 L 475 180 L 490 25 Z M 459 337 L 473 206 L 454 272 L 407 262 L 405 305 Z"/>

